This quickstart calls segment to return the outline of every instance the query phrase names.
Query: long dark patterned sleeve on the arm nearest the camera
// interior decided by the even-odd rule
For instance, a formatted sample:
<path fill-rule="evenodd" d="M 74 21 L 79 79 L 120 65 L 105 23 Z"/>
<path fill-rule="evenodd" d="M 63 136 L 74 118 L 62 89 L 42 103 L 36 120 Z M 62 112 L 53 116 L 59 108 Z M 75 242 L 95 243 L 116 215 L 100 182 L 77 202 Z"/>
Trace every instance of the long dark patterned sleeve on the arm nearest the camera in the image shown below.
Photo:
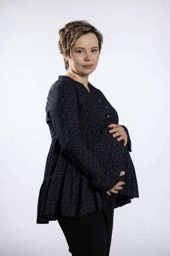
<path fill-rule="evenodd" d="M 92 186 L 108 191 L 119 182 L 120 170 L 106 170 L 80 138 L 77 91 L 72 84 L 54 86 L 48 94 L 48 112 L 66 156 L 83 170 Z"/>

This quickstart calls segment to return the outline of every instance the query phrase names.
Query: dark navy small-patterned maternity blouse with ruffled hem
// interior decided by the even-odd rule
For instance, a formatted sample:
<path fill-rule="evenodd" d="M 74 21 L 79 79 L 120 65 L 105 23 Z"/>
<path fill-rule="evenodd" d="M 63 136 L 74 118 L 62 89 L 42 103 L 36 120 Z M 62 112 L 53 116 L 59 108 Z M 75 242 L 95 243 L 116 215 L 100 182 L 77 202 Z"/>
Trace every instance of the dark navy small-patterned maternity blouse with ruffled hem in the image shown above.
<path fill-rule="evenodd" d="M 89 82 L 88 82 L 89 83 Z M 115 208 L 139 198 L 130 157 L 131 141 L 117 141 L 108 125 L 118 124 L 116 110 L 104 94 L 89 83 L 59 76 L 51 86 L 45 107 L 51 133 L 45 173 L 37 205 L 37 224 L 56 221 L 57 215 L 79 217 L 100 210 L 119 181 Z M 125 175 L 120 176 L 120 172 Z"/>

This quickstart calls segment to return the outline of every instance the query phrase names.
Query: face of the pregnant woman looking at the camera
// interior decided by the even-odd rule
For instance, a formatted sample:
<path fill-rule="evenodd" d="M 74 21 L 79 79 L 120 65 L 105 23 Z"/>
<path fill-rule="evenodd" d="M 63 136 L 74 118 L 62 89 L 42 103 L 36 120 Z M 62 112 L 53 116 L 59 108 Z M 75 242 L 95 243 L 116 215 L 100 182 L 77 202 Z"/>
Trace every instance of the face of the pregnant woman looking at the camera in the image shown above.
<path fill-rule="evenodd" d="M 83 48 L 83 49 L 82 49 Z M 99 61 L 99 42 L 94 33 L 82 35 L 71 49 L 72 58 L 68 58 L 69 70 L 80 76 L 91 74 Z M 87 68 L 85 65 L 93 64 Z"/>

